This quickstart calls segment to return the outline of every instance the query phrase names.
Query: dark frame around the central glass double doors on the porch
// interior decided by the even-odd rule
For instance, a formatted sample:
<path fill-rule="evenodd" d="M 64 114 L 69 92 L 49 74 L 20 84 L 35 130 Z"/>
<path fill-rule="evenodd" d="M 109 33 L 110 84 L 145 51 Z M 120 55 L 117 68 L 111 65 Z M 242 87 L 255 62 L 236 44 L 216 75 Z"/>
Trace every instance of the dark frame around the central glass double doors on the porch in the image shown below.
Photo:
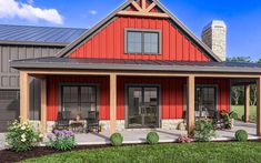
<path fill-rule="evenodd" d="M 158 114 L 159 114 L 159 124 L 158 128 L 161 128 L 161 84 L 148 84 L 148 83 L 126 83 L 124 84 L 124 125 L 126 129 L 133 129 L 133 128 L 129 128 L 129 88 L 131 86 L 140 86 L 140 88 L 158 88 L 158 104 L 159 104 L 159 109 L 158 109 Z M 140 128 L 140 129 L 149 129 L 149 128 Z"/>

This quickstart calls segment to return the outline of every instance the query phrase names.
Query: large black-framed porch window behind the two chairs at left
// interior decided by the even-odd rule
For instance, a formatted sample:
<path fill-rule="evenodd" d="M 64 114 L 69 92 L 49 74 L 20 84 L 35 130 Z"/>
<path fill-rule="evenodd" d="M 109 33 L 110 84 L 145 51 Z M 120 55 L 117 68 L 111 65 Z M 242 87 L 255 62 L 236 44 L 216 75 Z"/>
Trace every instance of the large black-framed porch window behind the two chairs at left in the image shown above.
<path fill-rule="evenodd" d="M 98 88 L 96 85 L 63 85 L 61 88 L 61 112 L 63 119 L 89 118 L 98 110 Z"/>

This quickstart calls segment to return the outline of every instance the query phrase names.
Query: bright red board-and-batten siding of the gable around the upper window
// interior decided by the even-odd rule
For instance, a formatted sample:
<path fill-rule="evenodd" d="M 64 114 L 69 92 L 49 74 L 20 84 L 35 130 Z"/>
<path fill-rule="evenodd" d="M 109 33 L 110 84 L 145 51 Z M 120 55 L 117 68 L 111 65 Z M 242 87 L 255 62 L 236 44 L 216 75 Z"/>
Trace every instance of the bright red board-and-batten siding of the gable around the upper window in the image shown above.
<path fill-rule="evenodd" d="M 162 32 L 162 53 L 128 54 L 124 53 L 126 29 L 153 29 Z M 177 60 L 177 61 L 210 61 L 199 47 L 193 44 L 168 19 L 118 17 L 104 29 L 87 40 L 70 58 L 99 59 L 139 59 L 139 60 Z"/>

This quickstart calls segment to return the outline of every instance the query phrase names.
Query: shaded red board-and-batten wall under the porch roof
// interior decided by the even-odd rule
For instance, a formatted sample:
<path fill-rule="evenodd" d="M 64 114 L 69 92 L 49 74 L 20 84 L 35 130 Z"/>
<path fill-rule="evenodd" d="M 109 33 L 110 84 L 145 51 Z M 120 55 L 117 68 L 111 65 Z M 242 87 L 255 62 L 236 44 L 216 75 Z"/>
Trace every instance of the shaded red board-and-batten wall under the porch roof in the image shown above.
<path fill-rule="evenodd" d="M 110 85 L 107 77 L 49 77 L 48 78 L 48 121 L 56 121 L 59 108 L 60 83 L 96 83 L 100 85 L 100 120 L 110 119 Z M 185 79 L 181 78 L 123 78 L 118 77 L 117 120 L 124 120 L 127 83 L 161 85 L 161 118 L 182 119 L 184 106 Z M 198 79 L 197 84 L 218 85 L 218 109 L 229 110 L 229 81 L 225 79 Z"/>

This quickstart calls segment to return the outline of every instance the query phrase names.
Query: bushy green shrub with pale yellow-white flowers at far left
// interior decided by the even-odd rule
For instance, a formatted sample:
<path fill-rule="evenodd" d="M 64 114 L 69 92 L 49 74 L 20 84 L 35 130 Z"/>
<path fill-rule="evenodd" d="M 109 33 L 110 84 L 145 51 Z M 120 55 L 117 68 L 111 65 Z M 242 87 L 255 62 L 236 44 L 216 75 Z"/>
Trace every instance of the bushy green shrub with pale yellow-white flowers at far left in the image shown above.
<path fill-rule="evenodd" d="M 40 141 L 43 135 L 36 131 L 29 122 L 19 123 L 17 120 L 8 126 L 6 145 L 14 152 L 26 152 Z"/>

